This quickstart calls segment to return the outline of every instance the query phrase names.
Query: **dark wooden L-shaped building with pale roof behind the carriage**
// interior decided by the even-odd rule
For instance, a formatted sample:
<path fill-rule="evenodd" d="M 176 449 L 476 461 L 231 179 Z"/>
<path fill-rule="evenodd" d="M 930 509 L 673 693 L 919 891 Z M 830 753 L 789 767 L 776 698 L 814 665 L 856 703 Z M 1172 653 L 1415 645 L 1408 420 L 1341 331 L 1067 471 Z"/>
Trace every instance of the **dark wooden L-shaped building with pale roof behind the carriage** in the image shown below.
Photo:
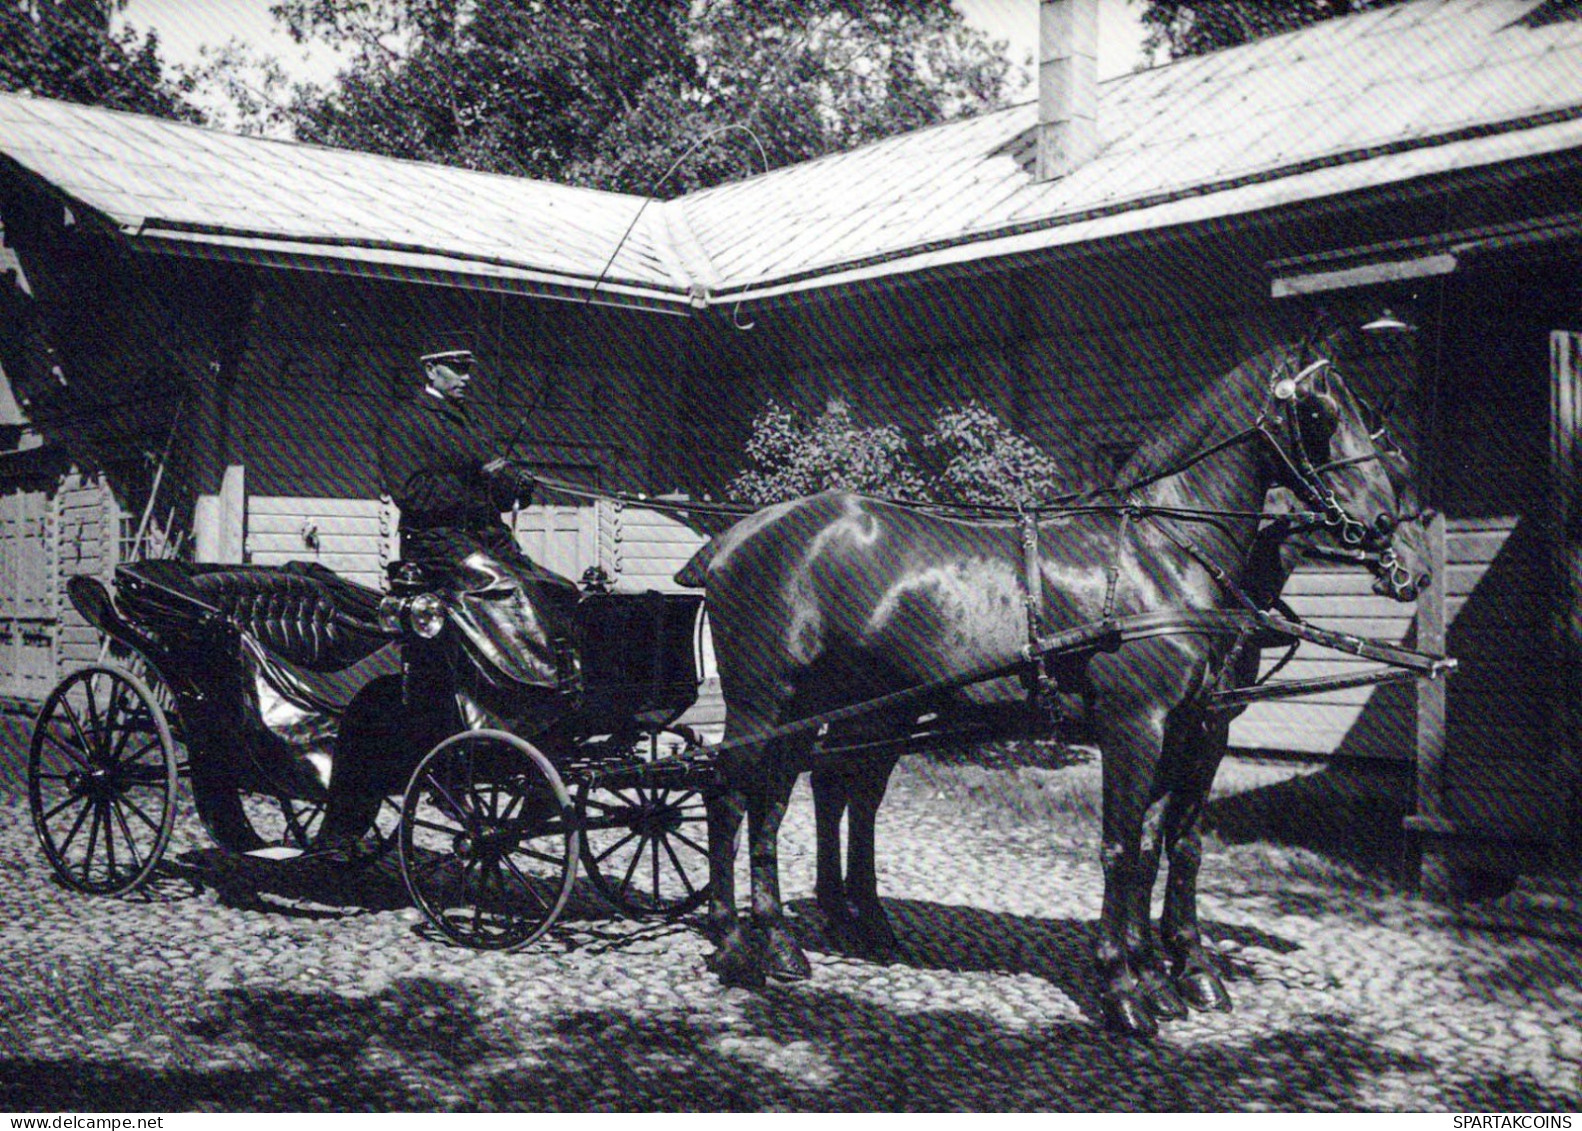
<path fill-rule="evenodd" d="M 375 576 L 369 443 L 435 332 L 473 337 L 501 437 L 525 421 L 557 473 L 698 495 L 769 397 L 837 394 L 903 421 L 975 397 L 1103 481 L 1318 307 L 1387 310 L 1414 332 L 1346 365 L 1416 438 L 1441 584 L 1416 618 L 1349 574 L 1292 592 L 1462 672 L 1259 705 L 1232 737 L 1413 758 L 1430 846 L 1573 868 L 1577 6 L 1408 0 L 1103 84 L 1092 0 L 1044 13 L 1038 104 L 669 202 L 0 100 L 5 568 L 32 579 L 0 611 L 0 679 L 36 690 L 90 647 L 59 577 L 150 531 Z M 690 546 L 609 519 L 530 516 L 562 568 L 641 547 L 619 565 L 644 584 Z"/>

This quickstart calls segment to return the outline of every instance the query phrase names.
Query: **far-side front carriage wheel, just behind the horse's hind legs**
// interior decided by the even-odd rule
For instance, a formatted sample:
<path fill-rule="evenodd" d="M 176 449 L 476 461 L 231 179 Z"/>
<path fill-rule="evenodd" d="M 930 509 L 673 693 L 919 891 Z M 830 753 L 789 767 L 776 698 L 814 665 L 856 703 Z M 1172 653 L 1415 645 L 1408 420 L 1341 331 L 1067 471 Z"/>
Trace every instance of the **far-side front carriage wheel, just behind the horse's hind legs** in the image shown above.
<path fill-rule="evenodd" d="M 701 747 L 690 728 L 645 736 L 645 756 Z M 577 789 L 582 867 L 615 910 L 633 917 L 687 914 L 709 897 L 709 816 L 698 789 L 634 785 Z"/>

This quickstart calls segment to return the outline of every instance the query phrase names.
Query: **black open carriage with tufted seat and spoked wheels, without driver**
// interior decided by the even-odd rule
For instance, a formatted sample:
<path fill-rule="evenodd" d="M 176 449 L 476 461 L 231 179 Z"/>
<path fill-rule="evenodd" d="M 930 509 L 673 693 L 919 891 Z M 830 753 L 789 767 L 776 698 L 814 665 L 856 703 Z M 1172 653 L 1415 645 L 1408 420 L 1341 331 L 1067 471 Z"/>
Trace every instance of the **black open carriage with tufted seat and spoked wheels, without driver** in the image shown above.
<path fill-rule="evenodd" d="M 576 660 L 543 688 L 468 639 L 470 607 L 487 617 L 511 592 L 483 555 L 443 579 L 396 563 L 388 592 L 310 563 L 71 579 L 130 663 L 71 672 L 40 710 L 28 796 L 49 864 L 82 892 L 147 883 L 185 778 L 239 857 L 358 868 L 394 849 L 413 903 L 465 946 L 532 943 L 579 865 L 623 913 L 690 911 L 707 891 L 706 766 L 677 718 L 698 694 L 702 598 L 590 581 L 563 642 Z M 414 671 L 452 685 L 422 694 Z"/>

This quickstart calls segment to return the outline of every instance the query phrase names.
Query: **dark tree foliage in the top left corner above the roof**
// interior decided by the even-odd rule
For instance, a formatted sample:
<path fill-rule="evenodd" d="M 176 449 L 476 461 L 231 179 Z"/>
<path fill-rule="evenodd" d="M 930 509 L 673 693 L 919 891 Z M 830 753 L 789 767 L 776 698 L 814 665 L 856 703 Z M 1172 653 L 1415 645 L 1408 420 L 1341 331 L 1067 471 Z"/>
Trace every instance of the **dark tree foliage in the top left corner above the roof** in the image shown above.
<path fill-rule="evenodd" d="M 0 0 L 0 90 L 202 120 L 171 81 L 160 38 L 111 28 L 125 0 Z"/>

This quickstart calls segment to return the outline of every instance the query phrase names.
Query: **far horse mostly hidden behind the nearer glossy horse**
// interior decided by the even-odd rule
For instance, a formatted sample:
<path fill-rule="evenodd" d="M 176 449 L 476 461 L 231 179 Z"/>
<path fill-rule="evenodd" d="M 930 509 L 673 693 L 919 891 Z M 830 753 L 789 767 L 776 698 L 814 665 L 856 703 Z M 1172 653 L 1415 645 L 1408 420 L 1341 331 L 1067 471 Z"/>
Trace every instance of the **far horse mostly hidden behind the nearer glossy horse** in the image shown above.
<path fill-rule="evenodd" d="M 1373 432 L 1376 441 L 1384 440 L 1384 427 Z M 1392 441 L 1389 441 L 1392 443 Z M 1266 524 L 1259 528 L 1253 550 L 1248 555 L 1248 573 L 1242 581 L 1243 592 L 1259 609 L 1280 609 L 1288 617 L 1289 609 L 1280 600 L 1286 582 L 1304 558 L 1342 560 L 1373 571 L 1373 592 L 1400 603 L 1416 601 L 1433 582 L 1429 525 L 1433 509 L 1424 508 L 1416 498 L 1414 473 L 1405 452 L 1398 448 L 1381 451 L 1381 462 L 1389 471 L 1403 508 L 1397 514 L 1391 536 L 1392 555 L 1367 552 L 1340 543 L 1340 531 L 1304 513 L 1300 500 L 1289 489 L 1277 487 L 1264 505 Z M 1095 497 L 1115 497 L 1125 489 L 1106 489 Z M 1250 687 L 1258 680 L 1264 647 L 1283 647 L 1286 637 L 1253 636 L 1239 649 L 1223 680 L 1229 688 Z M 1069 710 L 1069 709 L 1068 709 Z M 1245 705 L 1231 710 L 1209 710 L 1199 726 L 1204 772 L 1212 783 L 1213 774 L 1229 750 L 1231 723 Z M 889 786 L 889 777 L 900 759 L 899 753 L 884 753 L 881 743 L 889 739 L 894 750 L 905 729 L 878 732 L 876 720 L 862 731 L 846 731 L 829 740 L 865 740 L 875 753 L 854 759 L 840 769 L 815 769 L 812 772 L 813 824 L 816 830 L 816 865 L 813 895 L 827 924 L 829 933 L 843 946 L 870 955 L 889 955 L 897 949 L 895 932 L 884 916 L 878 897 L 875 868 L 875 821 L 880 804 Z M 1212 769 L 1210 769 L 1212 767 Z M 842 853 L 840 826 L 846 821 L 846 849 Z M 1172 861 L 1172 876 L 1179 881 L 1179 900 L 1196 900 L 1193 878 L 1185 875 L 1185 861 L 1198 857 L 1201 843 L 1201 810 L 1177 830 L 1166 845 Z M 843 857 L 845 856 L 845 864 Z M 1180 875 L 1177 875 L 1180 870 Z M 1164 1008 L 1169 1008 L 1166 1004 Z"/>

